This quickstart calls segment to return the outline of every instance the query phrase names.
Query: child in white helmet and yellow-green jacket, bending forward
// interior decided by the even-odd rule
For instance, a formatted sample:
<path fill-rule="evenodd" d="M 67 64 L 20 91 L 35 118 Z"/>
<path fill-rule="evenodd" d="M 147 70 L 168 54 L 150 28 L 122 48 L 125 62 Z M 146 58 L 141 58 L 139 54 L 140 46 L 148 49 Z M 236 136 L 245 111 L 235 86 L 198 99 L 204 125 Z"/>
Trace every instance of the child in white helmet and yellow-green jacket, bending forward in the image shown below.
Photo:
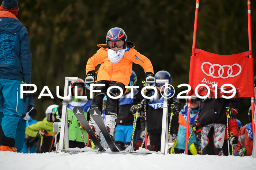
<path fill-rule="evenodd" d="M 26 135 L 30 137 L 38 137 L 37 153 L 45 153 L 55 151 L 52 116 L 57 111 L 58 105 L 50 105 L 46 111 L 46 117 L 42 121 L 38 121 L 26 128 Z"/>

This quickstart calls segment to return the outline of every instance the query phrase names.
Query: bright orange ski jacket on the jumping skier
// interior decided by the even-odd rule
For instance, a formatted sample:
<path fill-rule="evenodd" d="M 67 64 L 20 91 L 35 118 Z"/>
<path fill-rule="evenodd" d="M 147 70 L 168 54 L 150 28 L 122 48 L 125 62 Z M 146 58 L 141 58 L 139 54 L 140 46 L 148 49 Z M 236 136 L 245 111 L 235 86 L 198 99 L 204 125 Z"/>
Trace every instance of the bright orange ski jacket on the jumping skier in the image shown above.
<path fill-rule="evenodd" d="M 123 58 L 116 64 L 112 63 L 108 58 L 108 48 L 106 45 L 97 45 L 101 47 L 93 57 L 90 57 L 86 64 L 86 74 L 95 70 L 98 64 L 101 64 L 97 71 L 97 81 L 108 80 L 121 82 L 125 86 L 129 84 L 130 76 L 132 74 L 132 62 L 143 67 L 144 72 L 151 72 L 154 74 L 153 66 L 150 60 L 144 55 L 140 54 L 134 49 L 134 44 L 128 42 L 131 48 L 125 51 Z M 129 47 L 128 45 L 128 47 Z"/>

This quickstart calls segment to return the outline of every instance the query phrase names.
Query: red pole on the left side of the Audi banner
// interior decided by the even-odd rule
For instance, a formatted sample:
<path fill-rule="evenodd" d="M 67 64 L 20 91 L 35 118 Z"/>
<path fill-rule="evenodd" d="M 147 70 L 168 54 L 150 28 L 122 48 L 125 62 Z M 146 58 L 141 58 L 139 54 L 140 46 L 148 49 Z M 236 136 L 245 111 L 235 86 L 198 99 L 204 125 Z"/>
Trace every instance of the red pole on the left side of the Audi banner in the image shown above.
<path fill-rule="evenodd" d="M 196 13 L 195 13 L 195 23 L 194 23 L 194 33 L 193 33 L 193 44 L 192 44 L 192 56 L 195 56 L 196 47 L 196 28 L 197 28 L 197 17 L 199 9 L 199 0 L 196 0 Z M 191 98 L 188 99 L 188 114 L 187 114 L 187 131 L 186 131 L 186 144 L 185 144 L 185 154 L 188 154 L 188 138 L 189 138 L 189 124 L 190 124 L 190 105 Z"/>

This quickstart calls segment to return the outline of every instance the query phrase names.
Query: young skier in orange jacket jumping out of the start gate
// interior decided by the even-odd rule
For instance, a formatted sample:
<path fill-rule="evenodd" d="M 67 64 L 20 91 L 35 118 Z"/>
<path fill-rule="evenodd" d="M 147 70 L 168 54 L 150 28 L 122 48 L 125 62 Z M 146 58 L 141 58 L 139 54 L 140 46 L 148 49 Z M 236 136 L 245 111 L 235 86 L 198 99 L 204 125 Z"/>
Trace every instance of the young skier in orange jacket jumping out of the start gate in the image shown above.
<path fill-rule="evenodd" d="M 95 90 L 101 90 L 101 92 L 95 92 L 91 105 L 91 109 L 98 108 L 101 113 L 103 97 L 109 87 L 119 86 L 123 92 L 125 91 L 125 86 L 129 84 L 133 62 L 143 67 L 146 73 L 146 84 L 155 84 L 154 70 L 150 60 L 134 49 L 133 42 L 127 41 L 127 36 L 123 29 L 117 27 L 110 29 L 106 36 L 106 43 L 105 45 L 98 45 L 101 48 L 93 57 L 88 59 L 85 79 L 86 86 L 90 89 L 90 84 L 96 81 L 95 67 L 101 64 L 97 71 L 98 79 L 96 84 L 104 84 L 105 86 L 95 87 Z M 113 88 L 110 90 L 110 94 L 112 96 L 119 96 L 121 91 Z M 116 124 L 117 100 L 107 95 L 105 125 L 112 137 L 114 136 L 114 127 Z M 99 128 L 92 118 L 90 125 L 94 129 L 95 134 L 99 136 Z"/>

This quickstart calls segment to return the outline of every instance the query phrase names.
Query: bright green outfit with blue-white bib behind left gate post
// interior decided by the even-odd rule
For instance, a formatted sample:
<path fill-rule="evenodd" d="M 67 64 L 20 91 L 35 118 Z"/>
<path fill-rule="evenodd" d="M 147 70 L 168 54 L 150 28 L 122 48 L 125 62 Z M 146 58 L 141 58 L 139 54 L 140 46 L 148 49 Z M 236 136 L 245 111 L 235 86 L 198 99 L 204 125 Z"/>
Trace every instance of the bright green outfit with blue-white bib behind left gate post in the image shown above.
<path fill-rule="evenodd" d="M 78 125 L 78 120 L 76 119 L 76 116 L 74 115 L 73 109 L 74 106 L 79 106 L 83 108 L 84 115 L 87 118 L 87 112 L 90 110 L 91 106 L 91 100 L 83 99 L 82 101 L 75 102 L 72 98 L 68 99 L 68 140 L 77 141 L 77 142 L 83 142 L 83 138 L 85 142 L 87 142 L 87 132 L 83 130 L 83 138 L 81 134 L 81 130 Z M 55 121 L 61 121 L 61 115 L 62 115 L 62 103 L 59 105 L 57 112 L 54 115 Z"/>

